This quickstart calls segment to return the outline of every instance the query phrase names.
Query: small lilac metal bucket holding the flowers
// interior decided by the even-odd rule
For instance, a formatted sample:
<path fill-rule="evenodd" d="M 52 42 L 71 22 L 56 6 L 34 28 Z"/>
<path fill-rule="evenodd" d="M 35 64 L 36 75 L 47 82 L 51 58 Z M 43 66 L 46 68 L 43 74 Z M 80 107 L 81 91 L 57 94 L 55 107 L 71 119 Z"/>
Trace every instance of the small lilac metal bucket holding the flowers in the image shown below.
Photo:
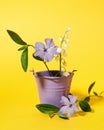
<path fill-rule="evenodd" d="M 57 73 L 58 71 L 51 71 Z M 48 71 L 36 72 L 34 74 L 38 86 L 40 103 L 52 104 L 60 107 L 62 96 L 69 94 L 73 73 L 66 76 L 49 76 Z"/>

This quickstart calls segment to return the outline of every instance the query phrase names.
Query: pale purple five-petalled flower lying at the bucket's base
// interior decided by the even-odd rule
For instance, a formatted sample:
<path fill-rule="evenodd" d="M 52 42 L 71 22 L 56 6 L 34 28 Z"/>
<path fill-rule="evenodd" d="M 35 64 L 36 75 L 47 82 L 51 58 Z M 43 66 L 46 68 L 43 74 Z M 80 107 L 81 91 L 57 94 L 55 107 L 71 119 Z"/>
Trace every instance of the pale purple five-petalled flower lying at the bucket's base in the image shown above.
<path fill-rule="evenodd" d="M 78 112 L 79 109 L 76 105 L 77 96 L 68 95 L 61 97 L 62 107 L 60 108 L 60 113 L 66 115 L 66 117 L 71 117 L 74 112 Z"/>

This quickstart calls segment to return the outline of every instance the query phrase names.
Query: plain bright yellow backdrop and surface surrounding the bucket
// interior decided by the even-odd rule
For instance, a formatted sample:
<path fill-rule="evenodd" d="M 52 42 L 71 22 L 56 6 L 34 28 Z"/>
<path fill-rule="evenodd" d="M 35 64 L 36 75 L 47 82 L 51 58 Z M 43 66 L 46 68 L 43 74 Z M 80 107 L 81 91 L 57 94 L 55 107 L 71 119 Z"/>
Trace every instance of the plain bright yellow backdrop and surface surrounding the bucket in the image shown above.
<path fill-rule="evenodd" d="M 103 0 L 0 0 L 0 130 L 98 130 L 104 129 L 104 100 L 93 100 L 93 112 L 62 120 L 40 113 L 38 91 L 31 68 L 45 69 L 29 55 L 28 72 L 22 71 L 18 45 L 6 30 L 14 30 L 29 44 L 58 38 L 71 27 L 66 58 L 69 71 L 77 69 L 71 92 L 87 95 L 104 90 Z M 33 50 L 30 49 L 33 53 Z M 51 67 L 52 64 L 50 65 Z"/>

